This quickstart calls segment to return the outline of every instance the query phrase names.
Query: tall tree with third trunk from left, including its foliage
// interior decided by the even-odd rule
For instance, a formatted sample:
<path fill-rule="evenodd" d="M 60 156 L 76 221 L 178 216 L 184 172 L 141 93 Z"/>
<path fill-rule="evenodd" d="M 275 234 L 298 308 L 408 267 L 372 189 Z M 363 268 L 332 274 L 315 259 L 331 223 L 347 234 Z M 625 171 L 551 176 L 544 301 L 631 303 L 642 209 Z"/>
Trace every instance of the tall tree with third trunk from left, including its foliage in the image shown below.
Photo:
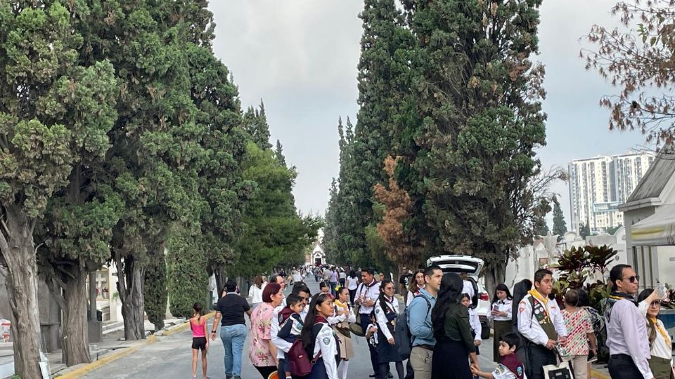
<path fill-rule="evenodd" d="M 108 58 L 120 86 L 106 183 L 124 201 L 113 227 L 124 335 L 144 338 L 143 279 L 174 222 L 200 216 L 197 168 L 205 132 L 195 120 L 188 51 L 200 44 L 192 15 L 205 2 L 106 1 L 92 8 L 83 51 Z"/>

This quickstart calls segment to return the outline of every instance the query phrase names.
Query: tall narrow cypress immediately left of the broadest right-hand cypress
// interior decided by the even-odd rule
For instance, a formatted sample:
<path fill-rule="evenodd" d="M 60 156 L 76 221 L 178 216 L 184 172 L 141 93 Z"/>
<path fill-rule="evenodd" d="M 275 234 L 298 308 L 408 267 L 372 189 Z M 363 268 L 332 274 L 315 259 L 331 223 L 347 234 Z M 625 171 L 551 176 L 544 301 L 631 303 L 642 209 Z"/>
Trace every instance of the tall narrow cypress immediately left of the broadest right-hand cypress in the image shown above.
<path fill-rule="evenodd" d="M 409 72 L 408 51 L 413 42 L 394 0 L 366 0 L 359 60 L 359 114 L 349 145 L 347 175 L 340 175 L 340 197 L 347 199 L 348 218 L 341 225 L 341 248 L 346 257 L 371 261 L 366 227 L 378 220 L 373 213 L 374 187 L 387 182 L 385 157 L 392 150 L 394 124 L 399 121 L 399 102 Z M 349 130 L 349 119 L 347 120 Z M 347 140 L 352 138 L 347 136 Z M 346 216 L 347 216 L 346 215 Z"/>

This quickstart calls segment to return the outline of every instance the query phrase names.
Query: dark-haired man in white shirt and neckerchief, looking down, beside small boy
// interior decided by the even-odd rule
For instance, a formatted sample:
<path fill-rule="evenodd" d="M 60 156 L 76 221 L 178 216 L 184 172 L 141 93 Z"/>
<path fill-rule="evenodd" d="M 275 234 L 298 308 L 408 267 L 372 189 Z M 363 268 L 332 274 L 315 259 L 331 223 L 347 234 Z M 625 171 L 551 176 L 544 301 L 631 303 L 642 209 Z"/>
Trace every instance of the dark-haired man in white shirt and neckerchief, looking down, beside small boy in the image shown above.
<path fill-rule="evenodd" d="M 553 289 L 553 273 L 541 269 L 534 273 L 534 289 L 518 304 L 518 331 L 525 337 L 529 357 L 529 379 L 544 379 L 543 367 L 555 364 L 555 345 L 567 343 L 567 327 L 555 300 L 548 295 Z"/>

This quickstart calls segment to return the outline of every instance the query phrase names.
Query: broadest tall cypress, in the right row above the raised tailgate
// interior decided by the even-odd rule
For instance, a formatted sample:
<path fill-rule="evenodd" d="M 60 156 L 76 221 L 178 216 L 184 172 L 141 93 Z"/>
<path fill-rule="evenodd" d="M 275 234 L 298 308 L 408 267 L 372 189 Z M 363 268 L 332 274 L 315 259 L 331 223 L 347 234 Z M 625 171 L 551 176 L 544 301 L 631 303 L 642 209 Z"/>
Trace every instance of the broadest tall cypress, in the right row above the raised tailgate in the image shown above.
<path fill-rule="evenodd" d="M 420 122 L 411 196 L 421 196 L 429 248 L 485 260 L 489 291 L 550 210 L 532 193 L 545 143 L 536 54 L 539 0 L 406 1 L 418 46 L 412 60 Z M 405 180 L 401 182 L 406 185 Z"/>

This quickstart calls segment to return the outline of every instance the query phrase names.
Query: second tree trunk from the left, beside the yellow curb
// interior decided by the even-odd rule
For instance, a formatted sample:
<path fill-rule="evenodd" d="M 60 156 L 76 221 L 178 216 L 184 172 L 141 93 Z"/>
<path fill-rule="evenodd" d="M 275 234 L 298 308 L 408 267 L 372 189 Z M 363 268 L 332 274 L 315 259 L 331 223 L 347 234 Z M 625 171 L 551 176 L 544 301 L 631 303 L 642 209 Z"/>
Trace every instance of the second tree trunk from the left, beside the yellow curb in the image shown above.
<path fill-rule="evenodd" d="M 61 354 L 66 366 L 90 363 L 89 335 L 87 333 L 86 272 L 72 266 L 72 277 L 63 288 L 63 323 L 61 324 Z"/>

